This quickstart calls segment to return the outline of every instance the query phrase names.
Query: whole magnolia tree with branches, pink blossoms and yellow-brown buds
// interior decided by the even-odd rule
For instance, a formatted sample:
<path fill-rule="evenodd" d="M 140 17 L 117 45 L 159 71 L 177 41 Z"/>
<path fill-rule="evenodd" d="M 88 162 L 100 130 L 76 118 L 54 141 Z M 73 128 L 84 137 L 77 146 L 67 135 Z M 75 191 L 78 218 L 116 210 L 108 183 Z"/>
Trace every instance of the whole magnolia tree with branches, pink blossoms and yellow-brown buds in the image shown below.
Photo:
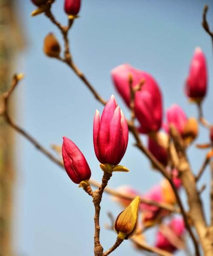
<path fill-rule="evenodd" d="M 93 122 L 94 153 L 103 171 L 101 183 L 91 178 L 89 165 L 72 138 L 63 137 L 60 151 L 62 161 L 60 157 L 56 158 L 43 148 L 37 140 L 10 118 L 8 100 L 18 82 L 23 78 L 22 74 L 14 75 L 11 88 L 2 95 L 3 105 L 0 113 L 12 128 L 26 137 L 46 157 L 64 168 L 72 182 L 78 184 L 82 191 L 92 198 L 95 208 L 94 255 L 107 256 L 117 247 L 122 246 L 121 243 L 124 240 L 131 239 L 142 254 L 147 251 L 161 256 L 171 256 L 178 250 L 184 250 L 186 239 L 190 237 L 194 248 L 192 253 L 185 250 L 186 255 L 189 253 L 196 256 L 213 256 L 213 166 L 211 166 L 210 184 L 210 221 L 204 216 L 200 197 L 204 188 L 201 190 L 197 188 L 198 180 L 213 157 L 213 128 L 204 119 L 202 113 L 202 102 L 207 92 L 207 63 L 204 52 L 200 48 L 195 49 L 184 85 L 186 96 L 197 105 L 198 119 L 188 118 L 181 107 L 174 104 L 166 111 L 166 122 L 163 122 L 162 93 L 153 76 L 129 64 L 121 64 L 112 69 L 113 84 L 130 110 L 131 119 L 128 120 L 117 105 L 115 96 L 112 95 L 108 101 L 104 100 L 74 64 L 69 49 L 68 32 L 72 29 L 74 21 L 78 21 L 76 18 L 78 18 L 81 1 L 65 0 L 67 26 L 61 25 L 52 14 L 51 7 L 54 0 L 32 0 L 32 2 L 37 6 L 32 16 L 44 14 L 63 35 L 63 56 L 61 46 L 52 33 L 46 35 L 44 39 L 44 53 L 67 64 L 89 88 L 95 99 L 103 104 L 101 115 L 98 110 L 94 110 Z M 213 32 L 210 31 L 206 14 L 207 6 L 204 7 L 202 26 L 213 40 Z M 190 167 L 187 149 L 198 135 L 199 124 L 207 128 L 209 141 L 196 146 L 209 148 L 209 152 L 199 173 L 195 175 Z M 107 186 L 113 172 L 129 171 L 127 167 L 120 165 L 127 149 L 129 133 L 134 137 L 138 150 L 150 160 L 152 168 L 163 176 L 159 184 L 143 195 L 130 186 L 121 186 L 119 189 L 110 189 Z M 142 134 L 147 137 L 147 145 L 142 143 Z M 187 210 L 179 195 L 181 188 L 186 191 Z M 112 247 L 107 250 L 104 250 L 101 244 L 99 223 L 100 204 L 104 204 L 102 202 L 104 192 L 112 195 L 124 208 L 115 219 L 111 214 L 109 215 L 112 224 L 107 228 L 117 233 L 117 239 L 114 244 L 112 241 Z M 145 235 L 146 230 L 153 227 L 157 228 L 157 233 L 155 244 L 150 244 L 146 241 Z"/>

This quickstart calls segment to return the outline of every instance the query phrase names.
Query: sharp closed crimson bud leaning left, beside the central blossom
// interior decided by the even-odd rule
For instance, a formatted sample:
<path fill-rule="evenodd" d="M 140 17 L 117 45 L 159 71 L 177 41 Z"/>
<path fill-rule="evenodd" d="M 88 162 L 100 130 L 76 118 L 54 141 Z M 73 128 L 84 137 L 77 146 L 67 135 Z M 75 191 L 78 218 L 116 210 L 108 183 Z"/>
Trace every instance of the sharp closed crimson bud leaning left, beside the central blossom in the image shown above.
<path fill-rule="evenodd" d="M 75 143 L 66 137 L 63 137 L 62 157 L 66 173 L 74 183 L 89 180 L 91 171 L 85 157 Z"/>

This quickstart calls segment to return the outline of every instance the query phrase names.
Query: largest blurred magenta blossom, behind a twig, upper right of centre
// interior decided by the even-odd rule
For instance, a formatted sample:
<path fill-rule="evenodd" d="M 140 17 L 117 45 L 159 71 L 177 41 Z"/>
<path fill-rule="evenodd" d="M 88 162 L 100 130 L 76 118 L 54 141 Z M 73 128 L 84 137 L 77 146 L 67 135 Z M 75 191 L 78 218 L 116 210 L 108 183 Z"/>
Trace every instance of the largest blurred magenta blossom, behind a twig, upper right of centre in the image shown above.
<path fill-rule="evenodd" d="M 158 131 L 162 122 L 162 97 L 157 82 L 150 74 L 137 70 L 129 64 L 123 64 L 112 70 L 112 80 L 118 93 L 130 106 L 129 76 L 132 76 L 133 87 L 145 81 L 140 91 L 135 93 L 135 115 L 140 122 L 142 133 Z"/>

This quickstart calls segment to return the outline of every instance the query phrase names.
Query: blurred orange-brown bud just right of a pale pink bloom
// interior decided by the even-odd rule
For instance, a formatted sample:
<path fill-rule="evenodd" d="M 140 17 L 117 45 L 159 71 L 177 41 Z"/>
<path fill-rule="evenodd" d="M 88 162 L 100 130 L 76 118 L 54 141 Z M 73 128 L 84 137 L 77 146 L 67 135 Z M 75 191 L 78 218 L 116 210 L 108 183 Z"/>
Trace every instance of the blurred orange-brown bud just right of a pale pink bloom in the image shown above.
<path fill-rule="evenodd" d="M 189 145 L 196 139 L 198 134 L 198 122 L 194 117 L 190 117 L 184 126 L 182 137 L 186 145 Z"/>

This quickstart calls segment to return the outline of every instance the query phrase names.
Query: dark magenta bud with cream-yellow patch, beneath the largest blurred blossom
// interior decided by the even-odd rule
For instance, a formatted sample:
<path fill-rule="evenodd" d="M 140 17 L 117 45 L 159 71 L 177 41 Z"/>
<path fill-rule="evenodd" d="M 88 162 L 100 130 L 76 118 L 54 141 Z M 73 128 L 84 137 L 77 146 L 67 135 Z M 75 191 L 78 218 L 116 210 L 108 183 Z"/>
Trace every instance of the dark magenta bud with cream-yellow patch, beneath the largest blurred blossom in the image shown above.
<path fill-rule="evenodd" d="M 162 132 L 158 132 L 156 138 L 148 137 L 148 149 L 164 166 L 168 163 L 168 144 L 168 135 Z"/>

